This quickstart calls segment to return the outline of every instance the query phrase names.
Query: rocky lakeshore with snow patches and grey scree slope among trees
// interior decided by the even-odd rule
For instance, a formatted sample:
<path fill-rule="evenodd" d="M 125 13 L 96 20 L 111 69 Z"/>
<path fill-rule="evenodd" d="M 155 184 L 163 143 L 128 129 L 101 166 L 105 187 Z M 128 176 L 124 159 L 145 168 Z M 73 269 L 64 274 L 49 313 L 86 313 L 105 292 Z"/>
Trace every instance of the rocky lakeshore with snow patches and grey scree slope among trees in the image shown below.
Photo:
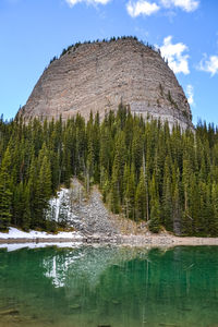
<path fill-rule="evenodd" d="M 136 222 L 113 215 L 105 206 L 100 192 L 96 186 L 87 197 L 84 186 L 72 179 L 70 189 L 62 189 L 59 195 L 51 199 L 53 211 L 58 217 L 64 203 L 65 216 L 72 231 L 57 234 L 47 232 L 23 232 L 10 228 L 9 233 L 0 233 L 0 245 L 3 244 L 114 244 L 128 246 L 178 246 L 178 245 L 218 245 L 218 238 L 175 237 L 167 231 L 153 234 L 146 221 Z M 57 211 L 58 210 L 58 211 Z M 58 218 L 57 218 L 58 221 Z M 64 244 L 64 246 L 65 246 Z M 43 246 L 43 245 L 41 245 Z"/>

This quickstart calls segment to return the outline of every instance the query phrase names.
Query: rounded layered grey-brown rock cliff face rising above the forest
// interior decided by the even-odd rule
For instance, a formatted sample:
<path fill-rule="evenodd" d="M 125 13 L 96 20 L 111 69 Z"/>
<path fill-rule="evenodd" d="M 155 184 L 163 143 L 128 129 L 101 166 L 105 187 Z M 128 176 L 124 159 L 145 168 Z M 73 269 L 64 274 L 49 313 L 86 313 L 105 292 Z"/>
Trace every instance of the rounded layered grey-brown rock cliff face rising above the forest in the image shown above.
<path fill-rule="evenodd" d="M 133 38 L 72 47 L 45 70 L 20 113 L 25 119 L 63 119 L 90 110 L 117 110 L 153 116 L 191 126 L 183 89 L 160 55 Z"/>

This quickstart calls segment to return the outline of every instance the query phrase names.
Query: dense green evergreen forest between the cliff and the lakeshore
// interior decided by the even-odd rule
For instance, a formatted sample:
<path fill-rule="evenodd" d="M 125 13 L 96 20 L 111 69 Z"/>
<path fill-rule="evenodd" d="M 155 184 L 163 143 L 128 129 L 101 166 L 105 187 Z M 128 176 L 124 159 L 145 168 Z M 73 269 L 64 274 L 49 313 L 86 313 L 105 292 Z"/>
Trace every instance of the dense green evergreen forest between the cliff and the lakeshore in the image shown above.
<path fill-rule="evenodd" d="M 218 237 L 218 129 L 144 120 L 120 105 L 102 121 L 0 120 L 0 230 L 55 231 L 49 199 L 72 177 L 114 214 L 180 235 Z"/>

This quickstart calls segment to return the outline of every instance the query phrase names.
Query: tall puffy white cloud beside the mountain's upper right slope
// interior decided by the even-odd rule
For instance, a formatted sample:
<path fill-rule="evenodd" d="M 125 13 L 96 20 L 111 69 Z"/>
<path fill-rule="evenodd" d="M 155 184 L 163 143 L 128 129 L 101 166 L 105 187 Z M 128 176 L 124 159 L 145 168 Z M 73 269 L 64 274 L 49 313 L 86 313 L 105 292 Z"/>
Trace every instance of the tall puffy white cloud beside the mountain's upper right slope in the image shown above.
<path fill-rule="evenodd" d="M 160 47 L 162 57 L 168 60 L 168 64 L 174 73 L 189 74 L 189 55 L 184 55 L 189 48 L 182 43 L 172 44 L 172 36 L 164 39 L 164 45 Z"/>

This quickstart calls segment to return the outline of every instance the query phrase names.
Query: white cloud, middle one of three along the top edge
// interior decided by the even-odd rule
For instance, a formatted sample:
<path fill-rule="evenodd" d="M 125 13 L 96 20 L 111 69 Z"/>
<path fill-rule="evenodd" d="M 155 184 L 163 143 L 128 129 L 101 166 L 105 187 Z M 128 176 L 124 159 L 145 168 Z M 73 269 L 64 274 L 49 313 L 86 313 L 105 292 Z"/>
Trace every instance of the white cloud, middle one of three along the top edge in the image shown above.
<path fill-rule="evenodd" d="M 155 2 L 150 3 L 145 0 L 138 0 L 136 2 L 129 1 L 126 4 L 128 13 L 132 17 L 137 17 L 138 15 L 150 16 L 160 9 Z"/>

